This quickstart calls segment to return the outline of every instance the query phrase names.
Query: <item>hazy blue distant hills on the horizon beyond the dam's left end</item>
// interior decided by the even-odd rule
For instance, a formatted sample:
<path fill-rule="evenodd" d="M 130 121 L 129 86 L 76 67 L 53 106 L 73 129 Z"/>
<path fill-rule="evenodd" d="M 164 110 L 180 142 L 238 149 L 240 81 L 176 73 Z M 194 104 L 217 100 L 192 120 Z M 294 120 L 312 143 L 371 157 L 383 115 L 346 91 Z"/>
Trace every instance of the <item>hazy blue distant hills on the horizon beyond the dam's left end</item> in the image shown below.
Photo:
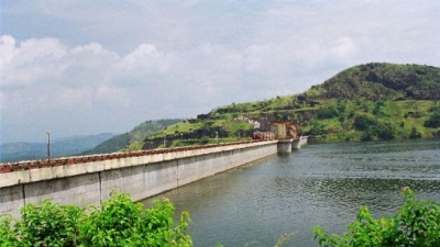
<path fill-rule="evenodd" d="M 51 142 L 51 157 L 78 155 L 95 147 L 113 134 L 103 133 L 88 136 L 72 136 Z M 46 143 L 7 143 L 0 146 L 1 162 L 47 158 Z"/>

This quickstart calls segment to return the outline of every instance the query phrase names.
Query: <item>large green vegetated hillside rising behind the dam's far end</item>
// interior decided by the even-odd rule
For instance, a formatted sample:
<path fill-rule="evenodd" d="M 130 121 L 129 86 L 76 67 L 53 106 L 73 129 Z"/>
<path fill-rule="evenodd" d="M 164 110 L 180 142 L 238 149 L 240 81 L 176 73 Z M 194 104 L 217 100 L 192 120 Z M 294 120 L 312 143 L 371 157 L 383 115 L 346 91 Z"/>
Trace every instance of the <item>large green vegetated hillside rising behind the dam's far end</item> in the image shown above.
<path fill-rule="evenodd" d="M 292 120 L 312 142 L 440 136 L 440 68 L 372 63 L 345 69 L 306 92 L 232 103 L 164 126 L 125 150 L 231 142 Z"/>

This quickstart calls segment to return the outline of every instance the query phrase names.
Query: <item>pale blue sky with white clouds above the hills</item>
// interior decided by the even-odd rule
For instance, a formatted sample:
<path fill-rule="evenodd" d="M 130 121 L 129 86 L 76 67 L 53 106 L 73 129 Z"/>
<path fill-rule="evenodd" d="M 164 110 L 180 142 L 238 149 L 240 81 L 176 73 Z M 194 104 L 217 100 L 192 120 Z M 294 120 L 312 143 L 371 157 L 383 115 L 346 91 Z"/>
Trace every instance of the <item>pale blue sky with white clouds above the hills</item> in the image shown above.
<path fill-rule="evenodd" d="M 1 0 L 0 9 L 0 143 L 193 119 L 372 61 L 440 67 L 438 0 Z"/>

